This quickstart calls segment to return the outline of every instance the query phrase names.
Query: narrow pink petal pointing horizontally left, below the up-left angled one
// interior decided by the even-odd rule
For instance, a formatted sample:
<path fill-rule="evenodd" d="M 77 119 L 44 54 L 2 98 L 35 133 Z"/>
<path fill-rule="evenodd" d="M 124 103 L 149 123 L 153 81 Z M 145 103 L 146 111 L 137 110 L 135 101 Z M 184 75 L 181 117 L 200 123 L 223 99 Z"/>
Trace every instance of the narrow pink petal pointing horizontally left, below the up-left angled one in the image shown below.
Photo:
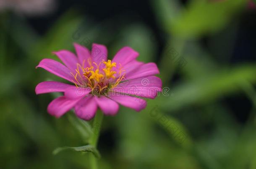
<path fill-rule="evenodd" d="M 36 94 L 64 92 L 68 87 L 72 87 L 72 85 L 57 81 L 43 81 L 36 86 L 35 91 Z"/>

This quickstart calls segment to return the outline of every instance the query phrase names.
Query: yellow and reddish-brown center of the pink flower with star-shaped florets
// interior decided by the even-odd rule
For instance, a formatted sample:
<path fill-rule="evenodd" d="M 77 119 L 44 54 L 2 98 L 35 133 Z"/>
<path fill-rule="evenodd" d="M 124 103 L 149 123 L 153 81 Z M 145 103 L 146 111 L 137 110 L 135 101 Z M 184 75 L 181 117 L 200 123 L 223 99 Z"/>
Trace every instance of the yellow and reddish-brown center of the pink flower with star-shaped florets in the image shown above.
<path fill-rule="evenodd" d="M 84 68 L 85 62 L 84 60 L 82 65 L 77 63 L 76 74 L 71 72 L 75 78 L 73 83 L 76 87 L 90 87 L 93 95 L 106 95 L 108 91 L 115 88 L 124 79 L 125 73 L 123 72 L 125 70 L 122 70 L 120 65 L 118 73 L 113 71 L 112 68 L 116 67 L 117 63 L 111 60 L 102 61 L 99 65 L 93 62 L 94 65 L 92 65 L 91 59 L 88 59 L 87 63 L 90 67 Z M 104 66 L 101 67 L 102 63 Z"/>

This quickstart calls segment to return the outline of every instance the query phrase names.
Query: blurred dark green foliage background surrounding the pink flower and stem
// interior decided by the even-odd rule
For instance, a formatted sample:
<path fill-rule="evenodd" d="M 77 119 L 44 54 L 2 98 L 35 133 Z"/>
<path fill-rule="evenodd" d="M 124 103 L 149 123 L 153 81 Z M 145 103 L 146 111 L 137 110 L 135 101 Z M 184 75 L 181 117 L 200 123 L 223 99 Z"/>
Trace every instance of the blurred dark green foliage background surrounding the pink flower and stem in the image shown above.
<path fill-rule="evenodd" d="M 249 0 L 0 0 L 0 168 L 89 169 L 82 129 L 37 96 L 35 69 L 73 42 L 128 45 L 156 62 L 164 94 L 104 116 L 100 169 L 256 169 L 256 8 Z"/>

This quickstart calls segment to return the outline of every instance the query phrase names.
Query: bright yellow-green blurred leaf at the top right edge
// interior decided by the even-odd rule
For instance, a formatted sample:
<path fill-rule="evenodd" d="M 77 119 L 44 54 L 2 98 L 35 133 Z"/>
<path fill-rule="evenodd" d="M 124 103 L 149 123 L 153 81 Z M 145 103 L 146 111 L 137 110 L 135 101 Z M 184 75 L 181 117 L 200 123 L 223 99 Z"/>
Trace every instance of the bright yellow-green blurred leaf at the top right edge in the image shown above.
<path fill-rule="evenodd" d="M 223 28 L 235 13 L 242 10 L 246 3 L 246 0 L 192 0 L 180 17 L 169 22 L 169 28 L 174 35 L 185 38 L 216 32 Z"/>

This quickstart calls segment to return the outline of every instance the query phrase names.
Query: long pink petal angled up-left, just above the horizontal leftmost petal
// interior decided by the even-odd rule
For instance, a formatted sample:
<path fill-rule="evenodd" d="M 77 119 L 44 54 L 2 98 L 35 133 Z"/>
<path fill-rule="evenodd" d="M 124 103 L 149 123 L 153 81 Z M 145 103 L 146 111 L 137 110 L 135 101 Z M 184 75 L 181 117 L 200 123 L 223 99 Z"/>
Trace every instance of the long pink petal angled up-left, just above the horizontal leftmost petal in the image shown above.
<path fill-rule="evenodd" d="M 61 78 L 64 78 L 68 81 L 72 80 L 74 81 L 74 77 L 71 75 L 71 71 L 64 66 L 63 64 L 54 61 L 52 59 L 43 59 L 36 68 L 44 68 L 45 70 L 49 71 L 52 74 L 55 74 L 56 76 L 59 76 Z"/>

